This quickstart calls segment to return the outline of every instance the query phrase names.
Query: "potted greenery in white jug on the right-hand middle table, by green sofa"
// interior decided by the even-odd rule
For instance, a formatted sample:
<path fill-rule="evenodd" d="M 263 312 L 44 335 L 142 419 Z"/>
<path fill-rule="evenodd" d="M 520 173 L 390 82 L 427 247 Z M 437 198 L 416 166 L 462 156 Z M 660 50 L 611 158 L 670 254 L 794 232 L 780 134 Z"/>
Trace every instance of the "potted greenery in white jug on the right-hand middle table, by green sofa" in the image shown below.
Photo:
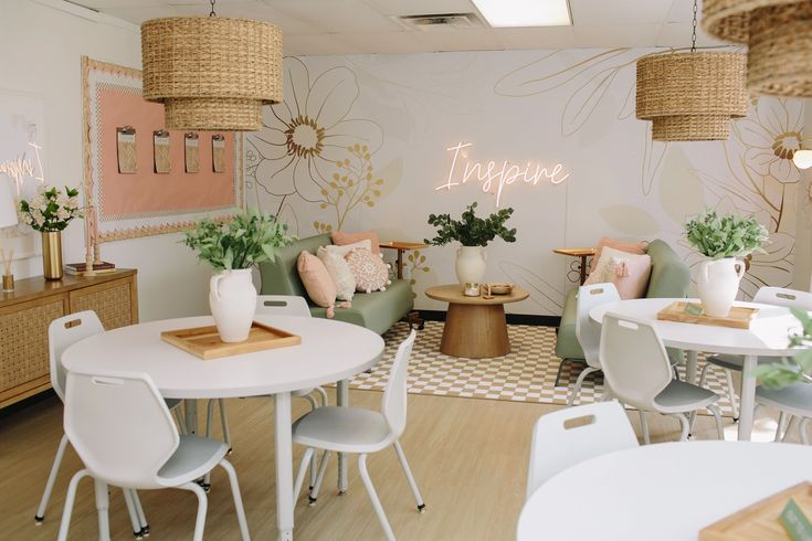
<path fill-rule="evenodd" d="M 685 224 L 688 243 L 708 257 L 699 265 L 696 286 L 710 317 L 727 317 L 739 293 L 745 263 L 737 259 L 752 252 L 764 253 L 767 229 L 752 216 L 717 215 L 706 211 Z"/>

